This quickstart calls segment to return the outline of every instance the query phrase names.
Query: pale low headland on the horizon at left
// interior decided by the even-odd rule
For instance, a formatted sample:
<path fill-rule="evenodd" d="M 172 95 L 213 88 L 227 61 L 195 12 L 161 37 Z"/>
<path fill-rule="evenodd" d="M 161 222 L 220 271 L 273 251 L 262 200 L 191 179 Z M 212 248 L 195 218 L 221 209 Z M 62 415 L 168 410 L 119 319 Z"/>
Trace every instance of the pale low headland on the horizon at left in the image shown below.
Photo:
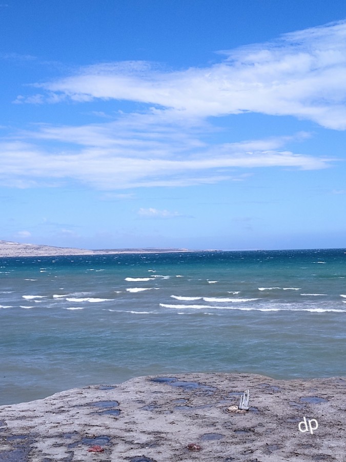
<path fill-rule="evenodd" d="M 88 250 L 73 247 L 54 247 L 51 245 L 21 244 L 0 240 L 1 257 L 55 257 L 64 255 L 112 255 L 190 252 L 187 248 L 101 248 Z"/>

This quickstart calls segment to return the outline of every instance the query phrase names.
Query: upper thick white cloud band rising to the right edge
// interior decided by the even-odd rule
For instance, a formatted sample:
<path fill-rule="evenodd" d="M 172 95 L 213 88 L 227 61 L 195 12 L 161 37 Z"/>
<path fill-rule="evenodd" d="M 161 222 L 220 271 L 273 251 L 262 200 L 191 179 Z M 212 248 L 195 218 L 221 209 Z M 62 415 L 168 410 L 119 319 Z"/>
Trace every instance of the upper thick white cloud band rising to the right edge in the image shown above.
<path fill-rule="evenodd" d="M 251 111 L 346 128 L 345 21 L 222 54 L 221 63 L 182 71 L 145 62 L 97 64 L 35 86 L 47 92 L 49 102 L 129 100 L 190 121 Z M 40 102 L 39 95 L 28 98 Z"/>

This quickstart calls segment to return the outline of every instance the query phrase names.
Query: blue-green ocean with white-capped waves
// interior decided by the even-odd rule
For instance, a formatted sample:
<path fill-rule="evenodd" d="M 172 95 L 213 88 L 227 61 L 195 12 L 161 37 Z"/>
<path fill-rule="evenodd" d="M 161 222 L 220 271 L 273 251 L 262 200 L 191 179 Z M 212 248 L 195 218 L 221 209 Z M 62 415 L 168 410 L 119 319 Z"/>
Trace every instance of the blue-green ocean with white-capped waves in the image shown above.
<path fill-rule="evenodd" d="M 346 249 L 0 259 L 0 404 L 179 372 L 346 375 Z"/>

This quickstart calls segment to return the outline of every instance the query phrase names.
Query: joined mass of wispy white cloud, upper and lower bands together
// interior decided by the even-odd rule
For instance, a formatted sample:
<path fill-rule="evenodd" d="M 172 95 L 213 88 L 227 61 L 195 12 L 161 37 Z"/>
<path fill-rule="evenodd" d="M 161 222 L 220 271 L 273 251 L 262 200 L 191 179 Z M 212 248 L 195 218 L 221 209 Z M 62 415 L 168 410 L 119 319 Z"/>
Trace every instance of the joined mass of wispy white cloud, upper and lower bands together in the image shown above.
<path fill-rule="evenodd" d="M 293 115 L 346 128 L 346 22 L 220 52 L 210 67 L 163 70 L 146 62 L 104 63 L 33 85 L 16 103 L 128 100 L 86 125 L 40 124 L 0 142 L 0 179 L 16 187 L 78 181 L 97 189 L 243 181 L 260 167 L 313 170 L 333 159 L 293 152 L 293 136 L 215 143 L 213 117 L 242 112 Z M 114 110 L 113 110 L 114 109 Z M 112 117 L 112 119 L 108 119 Z M 107 119 L 107 120 L 106 120 Z M 225 135 L 226 136 L 226 135 Z"/>

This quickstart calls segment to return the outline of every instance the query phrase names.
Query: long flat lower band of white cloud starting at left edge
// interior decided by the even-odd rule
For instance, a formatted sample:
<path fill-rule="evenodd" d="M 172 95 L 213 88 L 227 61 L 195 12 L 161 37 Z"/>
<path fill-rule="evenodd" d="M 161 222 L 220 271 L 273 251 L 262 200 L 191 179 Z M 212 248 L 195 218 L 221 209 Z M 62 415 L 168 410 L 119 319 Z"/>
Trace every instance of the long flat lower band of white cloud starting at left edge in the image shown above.
<path fill-rule="evenodd" d="M 78 138 L 78 128 L 76 131 Z M 283 167 L 313 170 L 328 167 L 331 161 L 282 149 L 287 137 L 207 145 L 199 149 L 194 148 L 189 140 L 186 142 L 184 137 L 177 138 L 172 145 L 169 138 L 141 139 L 140 143 L 130 139 L 119 146 L 119 140 L 115 138 L 112 146 L 101 142 L 100 146 L 82 145 L 75 150 L 39 148 L 27 142 L 0 143 L 0 181 L 7 185 L 31 187 L 41 183 L 59 185 L 72 179 L 105 190 L 189 186 L 246 178 L 247 173 L 239 172 L 239 169 Z M 83 144 L 85 140 L 79 142 Z"/>

